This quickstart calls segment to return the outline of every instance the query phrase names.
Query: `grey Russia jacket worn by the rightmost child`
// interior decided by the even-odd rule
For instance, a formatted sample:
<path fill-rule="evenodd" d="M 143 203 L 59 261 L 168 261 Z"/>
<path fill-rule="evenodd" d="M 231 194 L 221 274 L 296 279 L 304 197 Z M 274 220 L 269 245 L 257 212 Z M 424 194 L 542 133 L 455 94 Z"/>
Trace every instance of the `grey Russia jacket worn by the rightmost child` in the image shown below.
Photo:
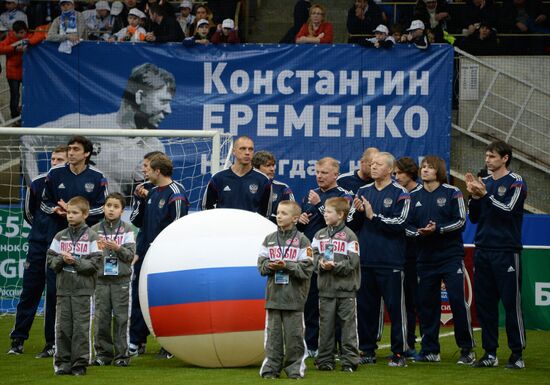
<path fill-rule="evenodd" d="M 335 266 L 332 270 L 321 268 L 326 246 L 332 244 Z M 320 297 L 355 297 L 361 286 L 359 242 L 355 233 L 342 223 L 337 227 L 325 227 L 315 234 L 312 243 L 315 267 L 318 273 L 317 287 Z"/>

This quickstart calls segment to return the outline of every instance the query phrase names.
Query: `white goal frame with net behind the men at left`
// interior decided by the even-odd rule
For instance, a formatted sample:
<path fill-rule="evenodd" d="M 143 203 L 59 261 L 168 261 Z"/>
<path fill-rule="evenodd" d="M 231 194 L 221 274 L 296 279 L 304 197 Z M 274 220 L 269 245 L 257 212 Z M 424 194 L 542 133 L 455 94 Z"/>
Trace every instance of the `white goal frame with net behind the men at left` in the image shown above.
<path fill-rule="evenodd" d="M 185 187 L 189 210 L 196 211 L 212 173 L 229 165 L 233 144 L 231 135 L 218 131 L 0 128 L 0 314 L 15 312 L 21 292 L 30 230 L 23 217 L 27 186 L 48 171 L 52 150 L 72 135 L 93 142 L 91 164 L 104 173 L 109 192 L 127 198 L 125 218 L 132 191 L 143 181 L 145 154 L 170 157 L 172 179 Z"/>

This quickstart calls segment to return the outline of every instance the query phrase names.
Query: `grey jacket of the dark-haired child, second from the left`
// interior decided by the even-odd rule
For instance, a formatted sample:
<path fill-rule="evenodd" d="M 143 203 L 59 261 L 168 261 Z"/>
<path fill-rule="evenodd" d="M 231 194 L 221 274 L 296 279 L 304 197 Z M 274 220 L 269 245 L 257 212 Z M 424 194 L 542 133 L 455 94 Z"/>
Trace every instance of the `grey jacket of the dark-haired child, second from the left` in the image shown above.
<path fill-rule="evenodd" d="M 103 257 L 100 258 L 99 270 L 97 272 L 98 282 L 113 283 L 130 280 L 132 275 L 132 260 L 136 253 L 136 241 L 132 225 L 122 220 L 108 222 L 103 220 L 92 226 L 99 239 L 114 240 L 119 246 L 118 251 L 103 248 Z M 114 257 L 117 260 L 118 274 L 105 275 L 105 258 Z"/>

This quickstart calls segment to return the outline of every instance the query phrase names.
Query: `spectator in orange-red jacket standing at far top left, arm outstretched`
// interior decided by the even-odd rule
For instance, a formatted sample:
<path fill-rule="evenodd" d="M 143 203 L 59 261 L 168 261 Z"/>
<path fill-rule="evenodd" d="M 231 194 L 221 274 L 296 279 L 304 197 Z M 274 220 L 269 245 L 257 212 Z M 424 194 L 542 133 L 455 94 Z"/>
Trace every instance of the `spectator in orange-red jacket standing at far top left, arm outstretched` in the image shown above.
<path fill-rule="evenodd" d="M 22 20 L 13 23 L 8 36 L 0 42 L 0 55 L 6 55 L 6 78 L 10 87 L 10 112 L 16 118 L 19 110 L 19 88 L 23 80 L 23 52 L 29 45 L 36 45 L 46 38 L 46 30 L 29 35 L 29 28 Z"/>

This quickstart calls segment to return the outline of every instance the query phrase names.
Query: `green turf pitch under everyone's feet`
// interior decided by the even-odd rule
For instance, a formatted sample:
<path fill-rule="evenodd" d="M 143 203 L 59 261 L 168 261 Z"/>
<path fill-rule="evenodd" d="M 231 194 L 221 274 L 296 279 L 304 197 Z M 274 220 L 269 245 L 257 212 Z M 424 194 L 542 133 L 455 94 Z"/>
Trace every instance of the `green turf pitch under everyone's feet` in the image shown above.
<path fill-rule="evenodd" d="M 25 343 L 25 353 L 21 356 L 5 354 L 9 349 L 9 331 L 13 325 L 13 316 L 0 317 L 0 383 L 15 384 L 94 384 L 94 385 L 171 385 L 171 384 L 257 384 L 266 382 L 258 376 L 259 367 L 242 369 L 202 369 L 189 366 L 177 358 L 171 360 L 155 359 L 154 352 L 158 344 L 150 339 L 148 353 L 132 360 L 127 368 L 91 367 L 88 375 L 81 378 L 73 376 L 56 377 L 53 374 L 51 359 L 36 359 L 34 355 L 43 347 L 41 328 L 42 318 L 37 318 L 31 332 L 31 338 Z M 444 328 L 442 333 L 452 331 Z M 386 327 L 382 344 L 388 343 L 389 329 Z M 481 335 L 475 334 L 480 344 Z M 488 384 L 488 385 L 527 385 L 550 383 L 550 332 L 528 331 L 528 348 L 524 358 L 525 370 L 505 370 L 509 351 L 506 348 L 504 330 L 501 330 L 499 351 L 500 367 L 474 369 L 455 364 L 458 351 L 453 337 L 441 339 L 441 363 L 409 363 L 407 368 L 390 368 L 384 358 L 389 349 L 378 351 L 378 364 L 362 366 L 355 373 L 319 372 L 312 360 L 307 361 L 308 371 L 301 382 L 311 384 Z M 477 348 L 477 353 L 482 353 Z M 238 352 L 235 352 L 238 354 Z M 283 375 L 284 377 L 284 375 Z M 281 378 L 279 382 L 289 383 L 292 380 Z"/>

